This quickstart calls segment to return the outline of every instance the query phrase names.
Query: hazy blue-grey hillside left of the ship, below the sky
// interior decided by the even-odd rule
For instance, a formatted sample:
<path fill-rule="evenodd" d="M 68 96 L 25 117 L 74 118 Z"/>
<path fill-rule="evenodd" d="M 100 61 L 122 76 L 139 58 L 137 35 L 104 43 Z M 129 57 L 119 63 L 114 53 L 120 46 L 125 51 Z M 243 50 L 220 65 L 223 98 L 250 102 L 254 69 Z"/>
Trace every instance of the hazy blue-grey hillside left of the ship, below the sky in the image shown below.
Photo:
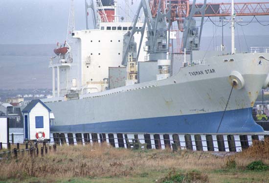
<path fill-rule="evenodd" d="M 49 59 L 55 44 L 0 45 L 1 89 L 51 88 Z"/>

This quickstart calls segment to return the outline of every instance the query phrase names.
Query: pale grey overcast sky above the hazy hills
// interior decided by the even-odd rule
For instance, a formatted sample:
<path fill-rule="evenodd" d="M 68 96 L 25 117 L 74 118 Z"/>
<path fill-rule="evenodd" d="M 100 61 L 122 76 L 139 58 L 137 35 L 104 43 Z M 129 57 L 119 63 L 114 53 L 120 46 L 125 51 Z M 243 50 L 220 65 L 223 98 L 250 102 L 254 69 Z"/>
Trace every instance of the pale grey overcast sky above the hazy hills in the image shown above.
<path fill-rule="evenodd" d="M 85 1 L 75 1 L 76 30 L 85 29 Z M 125 1 L 118 0 L 123 12 Z M 129 4 L 135 12 L 139 0 Z M 207 0 L 207 2 L 230 2 L 231 0 Z M 235 2 L 256 0 L 235 0 Z M 260 0 L 269 2 L 269 0 Z M 203 2 L 203 0 L 197 0 Z M 67 33 L 69 0 L 0 0 L 0 44 L 36 44 L 64 42 Z M 244 21 L 252 17 L 241 17 Z M 269 20 L 268 17 L 257 17 L 259 20 Z M 205 18 L 206 20 L 207 18 Z M 219 24 L 219 18 L 212 18 Z M 269 22 L 265 22 L 268 24 Z M 244 22 L 242 23 L 244 24 Z M 245 23 L 246 24 L 246 23 Z M 269 26 L 251 23 L 244 27 L 245 35 L 269 35 Z M 203 36 L 212 36 L 214 32 L 221 35 L 221 28 L 212 25 L 208 20 L 204 24 Z M 229 26 L 224 27 L 224 35 L 230 33 Z M 236 34 L 242 35 L 239 26 Z"/>

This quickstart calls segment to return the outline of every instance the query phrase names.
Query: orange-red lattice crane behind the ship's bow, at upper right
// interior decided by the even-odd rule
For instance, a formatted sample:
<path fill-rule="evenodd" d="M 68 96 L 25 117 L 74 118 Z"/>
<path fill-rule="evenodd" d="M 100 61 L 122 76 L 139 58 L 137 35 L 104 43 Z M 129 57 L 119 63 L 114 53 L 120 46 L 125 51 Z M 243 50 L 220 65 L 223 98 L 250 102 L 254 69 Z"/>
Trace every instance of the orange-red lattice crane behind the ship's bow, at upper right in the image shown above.
<path fill-rule="evenodd" d="M 182 52 L 182 39 L 179 37 L 179 32 L 184 31 L 184 20 L 189 17 L 193 3 L 189 0 L 161 0 L 162 7 L 165 3 L 171 3 L 171 21 L 177 22 L 177 44 L 179 52 Z M 157 15 L 157 4 L 159 0 L 150 0 L 150 7 L 153 17 Z M 196 9 L 202 8 L 204 3 L 195 3 Z M 161 7 L 161 8 L 162 8 Z M 206 3 L 204 9 L 204 17 L 228 17 L 231 16 L 231 3 Z M 234 12 L 237 16 L 265 16 L 269 15 L 269 2 L 235 2 Z M 202 17 L 201 12 L 196 12 L 192 17 Z"/>

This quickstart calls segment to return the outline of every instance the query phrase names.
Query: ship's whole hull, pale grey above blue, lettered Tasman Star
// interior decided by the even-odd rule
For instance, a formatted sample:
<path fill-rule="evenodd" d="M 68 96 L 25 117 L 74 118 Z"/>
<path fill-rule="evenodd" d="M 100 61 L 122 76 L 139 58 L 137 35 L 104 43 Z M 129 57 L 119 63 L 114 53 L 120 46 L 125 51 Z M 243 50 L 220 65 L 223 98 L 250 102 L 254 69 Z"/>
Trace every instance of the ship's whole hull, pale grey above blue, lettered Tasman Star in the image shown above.
<path fill-rule="evenodd" d="M 51 131 L 216 133 L 221 123 L 220 133 L 262 132 L 251 114 L 269 73 L 269 61 L 260 55 L 269 58 L 265 53 L 212 57 L 165 80 L 84 94 L 79 100 L 44 100 L 55 116 Z M 240 83 L 234 86 L 224 112 L 233 73 L 245 83 L 241 89 Z"/>

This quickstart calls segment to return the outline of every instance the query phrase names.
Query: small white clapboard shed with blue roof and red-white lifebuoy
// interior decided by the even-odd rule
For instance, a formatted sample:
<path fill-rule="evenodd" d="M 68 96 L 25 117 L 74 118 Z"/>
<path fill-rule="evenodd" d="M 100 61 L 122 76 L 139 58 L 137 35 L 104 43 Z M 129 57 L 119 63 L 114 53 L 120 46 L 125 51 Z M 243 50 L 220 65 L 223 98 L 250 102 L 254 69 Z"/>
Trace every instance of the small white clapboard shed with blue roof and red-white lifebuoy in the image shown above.
<path fill-rule="evenodd" d="M 22 110 L 23 138 L 32 141 L 49 141 L 49 112 L 51 110 L 41 101 L 32 100 Z"/>

